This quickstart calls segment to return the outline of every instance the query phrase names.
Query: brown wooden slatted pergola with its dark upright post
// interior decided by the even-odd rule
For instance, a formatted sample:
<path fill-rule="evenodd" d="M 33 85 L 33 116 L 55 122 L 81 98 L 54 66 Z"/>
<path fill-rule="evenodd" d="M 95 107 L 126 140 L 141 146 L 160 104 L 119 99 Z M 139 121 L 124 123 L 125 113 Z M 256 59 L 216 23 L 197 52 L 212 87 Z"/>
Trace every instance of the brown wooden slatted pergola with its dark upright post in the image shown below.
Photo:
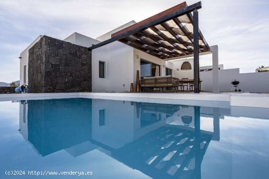
<path fill-rule="evenodd" d="M 162 60 L 194 56 L 194 92 L 199 88 L 199 53 L 210 47 L 198 27 L 198 9 L 202 3 L 188 6 L 182 2 L 150 18 L 111 35 L 111 39 L 89 47 L 91 51 L 113 41 L 120 41 Z M 193 12 L 193 14 L 192 14 Z"/>

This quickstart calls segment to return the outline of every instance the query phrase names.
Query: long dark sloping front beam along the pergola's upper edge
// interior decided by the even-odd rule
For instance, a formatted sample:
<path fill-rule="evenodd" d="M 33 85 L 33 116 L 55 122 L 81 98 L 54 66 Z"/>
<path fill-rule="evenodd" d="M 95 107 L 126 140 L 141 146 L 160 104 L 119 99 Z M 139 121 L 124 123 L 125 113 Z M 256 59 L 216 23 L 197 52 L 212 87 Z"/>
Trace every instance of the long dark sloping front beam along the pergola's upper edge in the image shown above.
<path fill-rule="evenodd" d="M 186 3 L 184 3 L 184 4 L 186 5 Z M 165 16 L 162 16 L 162 17 L 159 17 L 159 18 L 156 16 L 155 17 L 156 19 L 149 20 L 147 23 L 143 23 L 142 25 L 140 25 L 138 27 L 135 27 L 135 28 L 133 28 L 133 29 L 131 29 L 129 31 L 123 32 L 123 33 L 121 33 L 119 35 L 116 35 L 116 36 L 112 37 L 109 40 L 105 40 L 105 41 L 100 42 L 100 43 L 98 43 L 96 45 L 93 45 L 93 46 L 89 47 L 88 50 L 93 50 L 95 48 L 104 46 L 104 45 L 112 43 L 114 41 L 121 40 L 121 39 L 126 38 L 126 37 L 128 37 L 130 35 L 133 35 L 135 33 L 138 33 L 140 31 L 142 31 L 142 30 L 145 30 L 145 29 L 147 29 L 149 27 L 161 24 L 161 23 L 166 22 L 168 20 L 172 20 L 172 19 L 177 18 L 179 16 L 182 16 L 184 14 L 191 13 L 192 11 L 200 9 L 200 8 L 202 8 L 202 2 L 201 1 L 199 1 L 197 3 L 194 3 L 194 4 L 190 5 L 190 6 L 186 6 L 184 8 L 181 8 L 181 9 L 176 10 L 176 11 L 171 12 L 171 13 L 169 13 L 169 11 L 167 11 L 167 13 L 169 13 L 169 14 L 167 14 Z"/>

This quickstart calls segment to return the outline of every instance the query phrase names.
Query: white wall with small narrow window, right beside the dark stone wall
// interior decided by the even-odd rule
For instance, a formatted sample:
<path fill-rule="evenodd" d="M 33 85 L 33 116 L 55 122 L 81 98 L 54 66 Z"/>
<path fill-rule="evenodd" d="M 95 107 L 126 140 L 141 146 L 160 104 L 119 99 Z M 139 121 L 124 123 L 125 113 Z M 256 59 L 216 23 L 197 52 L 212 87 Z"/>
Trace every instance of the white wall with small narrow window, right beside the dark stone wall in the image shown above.
<path fill-rule="evenodd" d="M 132 47 L 118 41 L 92 50 L 92 92 L 129 91 L 134 80 L 133 54 Z M 105 78 L 99 78 L 99 61 L 105 62 Z"/>

